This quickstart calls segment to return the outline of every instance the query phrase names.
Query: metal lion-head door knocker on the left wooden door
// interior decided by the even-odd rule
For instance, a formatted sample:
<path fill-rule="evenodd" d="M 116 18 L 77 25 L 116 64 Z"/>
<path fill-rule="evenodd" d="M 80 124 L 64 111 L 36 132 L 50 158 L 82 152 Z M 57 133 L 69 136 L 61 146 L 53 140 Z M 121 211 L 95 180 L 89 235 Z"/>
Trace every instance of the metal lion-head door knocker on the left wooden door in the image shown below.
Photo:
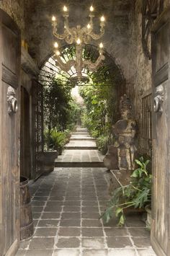
<path fill-rule="evenodd" d="M 17 99 L 15 97 L 15 91 L 13 87 L 8 87 L 7 90 L 7 102 L 8 102 L 8 112 L 9 114 L 14 114 L 18 110 Z"/>

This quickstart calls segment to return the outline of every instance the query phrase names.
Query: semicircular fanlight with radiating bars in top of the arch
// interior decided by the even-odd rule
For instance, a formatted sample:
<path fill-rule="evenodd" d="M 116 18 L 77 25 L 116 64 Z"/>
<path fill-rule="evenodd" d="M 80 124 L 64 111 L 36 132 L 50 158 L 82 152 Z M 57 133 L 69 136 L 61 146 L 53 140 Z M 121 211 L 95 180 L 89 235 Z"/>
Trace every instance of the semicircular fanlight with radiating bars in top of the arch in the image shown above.
<path fill-rule="evenodd" d="M 60 49 L 61 58 L 63 61 L 73 60 L 75 58 L 75 45 L 65 45 Z M 84 59 L 90 59 L 95 62 L 99 56 L 99 50 L 94 45 L 85 45 L 84 46 Z M 41 83 L 48 83 L 50 81 L 51 76 L 55 76 L 58 80 L 61 80 L 63 84 L 72 84 L 73 87 L 78 85 L 88 85 L 89 81 L 94 79 L 95 77 L 95 85 L 109 85 L 112 86 L 116 84 L 119 87 L 121 93 L 125 91 L 125 79 L 122 75 L 122 71 L 120 66 L 117 66 L 115 63 L 115 59 L 107 53 L 104 52 L 105 60 L 102 63 L 102 66 L 99 67 L 97 71 L 89 72 L 88 69 L 84 69 L 82 71 L 82 75 L 84 79 L 79 83 L 76 78 L 76 69 L 71 67 L 70 71 L 61 71 L 59 67 L 57 67 L 57 63 L 55 62 L 54 54 L 50 53 L 50 56 L 46 58 L 45 62 L 42 64 L 40 69 L 39 81 Z M 105 71 L 104 71 L 105 70 Z M 105 76 L 101 76 L 103 73 Z M 112 78 L 107 79 L 107 78 Z M 121 94 L 120 93 L 120 94 Z"/>

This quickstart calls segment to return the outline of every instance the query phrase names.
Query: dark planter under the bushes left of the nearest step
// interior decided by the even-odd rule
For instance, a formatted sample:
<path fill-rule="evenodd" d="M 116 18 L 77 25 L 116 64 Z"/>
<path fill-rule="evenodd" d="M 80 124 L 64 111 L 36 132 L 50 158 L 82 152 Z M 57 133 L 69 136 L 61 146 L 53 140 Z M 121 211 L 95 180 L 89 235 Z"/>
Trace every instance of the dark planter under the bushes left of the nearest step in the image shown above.
<path fill-rule="evenodd" d="M 38 161 L 41 164 L 44 173 L 53 172 L 55 159 L 58 157 L 58 151 L 41 152 L 38 156 Z"/>

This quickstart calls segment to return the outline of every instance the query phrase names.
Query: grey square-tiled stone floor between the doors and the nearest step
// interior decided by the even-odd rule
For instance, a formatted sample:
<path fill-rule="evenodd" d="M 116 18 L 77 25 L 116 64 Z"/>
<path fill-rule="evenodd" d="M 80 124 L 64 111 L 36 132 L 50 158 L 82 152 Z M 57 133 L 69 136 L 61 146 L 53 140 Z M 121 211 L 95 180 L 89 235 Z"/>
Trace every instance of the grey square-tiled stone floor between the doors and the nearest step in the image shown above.
<path fill-rule="evenodd" d="M 35 233 L 17 256 L 153 256 L 141 216 L 117 227 L 99 215 L 109 199 L 104 168 L 55 168 L 30 185 Z"/>

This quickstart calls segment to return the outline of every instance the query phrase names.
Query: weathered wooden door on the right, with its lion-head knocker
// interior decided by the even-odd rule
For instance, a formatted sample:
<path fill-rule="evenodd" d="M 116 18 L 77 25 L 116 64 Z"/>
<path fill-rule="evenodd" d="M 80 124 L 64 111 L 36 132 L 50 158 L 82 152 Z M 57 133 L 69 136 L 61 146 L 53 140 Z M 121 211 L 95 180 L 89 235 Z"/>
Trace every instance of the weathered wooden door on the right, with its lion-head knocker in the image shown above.
<path fill-rule="evenodd" d="M 153 27 L 153 206 L 151 243 L 170 255 L 170 7 Z"/>

